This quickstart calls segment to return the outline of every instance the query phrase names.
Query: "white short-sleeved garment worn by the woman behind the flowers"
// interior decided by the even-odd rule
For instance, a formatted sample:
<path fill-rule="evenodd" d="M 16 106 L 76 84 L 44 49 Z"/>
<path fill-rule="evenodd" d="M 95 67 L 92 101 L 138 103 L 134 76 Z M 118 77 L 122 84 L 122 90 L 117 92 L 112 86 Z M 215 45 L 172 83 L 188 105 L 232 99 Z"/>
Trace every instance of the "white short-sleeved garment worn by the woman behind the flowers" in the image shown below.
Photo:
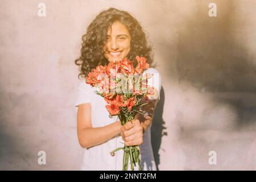
<path fill-rule="evenodd" d="M 148 84 L 154 86 L 158 89 L 158 93 L 160 93 L 161 77 L 159 72 L 155 68 L 148 68 L 144 73 L 154 73 L 154 76 L 148 80 Z M 94 93 L 95 90 L 96 88 L 92 88 L 92 86 L 85 83 L 85 80 L 82 80 L 77 89 L 77 99 L 74 106 L 77 107 L 84 103 L 91 104 L 91 121 L 93 127 L 102 127 L 116 122 L 118 117 L 109 118 L 109 112 L 105 107 L 106 101 Z M 143 143 L 139 146 L 143 171 L 156 170 L 150 132 L 151 125 L 143 134 Z M 110 151 L 118 147 L 123 147 L 123 140 L 120 135 L 100 145 L 85 148 L 81 170 L 122 170 L 123 150 L 115 152 L 114 156 L 110 155 Z M 128 169 L 130 170 L 130 160 Z M 138 165 L 135 167 L 135 170 L 138 170 Z"/>

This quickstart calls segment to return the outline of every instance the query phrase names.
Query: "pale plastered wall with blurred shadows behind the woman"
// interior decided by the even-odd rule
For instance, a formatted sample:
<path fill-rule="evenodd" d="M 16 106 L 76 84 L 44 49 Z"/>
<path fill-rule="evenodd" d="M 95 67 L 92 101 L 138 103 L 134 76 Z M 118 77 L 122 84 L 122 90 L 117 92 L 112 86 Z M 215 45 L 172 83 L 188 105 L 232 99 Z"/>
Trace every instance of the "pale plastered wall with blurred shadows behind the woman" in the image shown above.
<path fill-rule="evenodd" d="M 38 4 L 46 3 L 46 17 Z M 209 3 L 217 17 L 209 17 Z M 160 170 L 256 169 L 256 1 L 14 1 L 0 7 L 0 169 L 79 169 L 81 36 L 109 7 L 129 11 L 162 75 L 152 143 Z M 47 164 L 38 164 L 38 151 Z M 217 164 L 209 165 L 209 151 Z"/>

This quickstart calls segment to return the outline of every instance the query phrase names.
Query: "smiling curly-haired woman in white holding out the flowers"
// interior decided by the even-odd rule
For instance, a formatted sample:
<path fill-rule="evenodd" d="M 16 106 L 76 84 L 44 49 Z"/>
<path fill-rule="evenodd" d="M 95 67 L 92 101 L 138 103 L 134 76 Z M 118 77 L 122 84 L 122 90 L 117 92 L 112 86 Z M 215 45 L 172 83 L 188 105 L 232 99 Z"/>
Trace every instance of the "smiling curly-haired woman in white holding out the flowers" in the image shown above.
<path fill-rule="evenodd" d="M 147 117 L 136 114 L 133 121 L 122 126 L 118 117 L 109 117 L 105 100 L 94 93 L 96 90 L 85 84 L 87 73 L 97 65 L 107 65 L 110 61 L 127 59 L 134 61 L 136 56 L 146 57 L 152 64 L 151 47 L 147 46 L 146 36 L 138 21 L 129 13 L 114 8 L 102 11 L 82 36 L 81 56 L 75 61 L 80 67 L 79 85 L 75 106 L 77 110 L 77 135 L 85 149 L 82 170 L 122 170 L 123 152 L 110 151 L 117 147 L 139 145 L 143 170 L 156 170 L 151 147 L 150 127 L 156 102 L 159 100 L 160 75 L 154 68 L 145 72 L 158 75 L 155 81 L 156 94 L 142 109 L 150 113 Z M 134 66 L 137 61 L 134 61 Z M 151 65 L 152 66 L 152 65 Z M 155 77 L 152 77 L 152 79 Z M 138 170 L 137 168 L 135 168 Z"/>

